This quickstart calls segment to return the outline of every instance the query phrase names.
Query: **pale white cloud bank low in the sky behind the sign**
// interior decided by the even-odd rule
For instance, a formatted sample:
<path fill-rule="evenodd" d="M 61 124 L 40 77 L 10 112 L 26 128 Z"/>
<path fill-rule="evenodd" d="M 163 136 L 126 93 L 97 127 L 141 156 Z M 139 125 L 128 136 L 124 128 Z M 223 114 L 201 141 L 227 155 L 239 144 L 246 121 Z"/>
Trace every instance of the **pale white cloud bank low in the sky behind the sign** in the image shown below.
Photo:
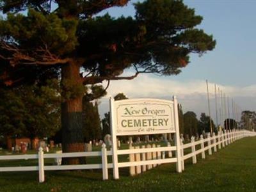
<path fill-rule="evenodd" d="M 129 76 L 129 73 L 126 73 Z M 217 85 L 226 96 L 234 99 L 242 109 L 255 111 L 256 109 L 256 84 L 246 87 Z M 172 99 L 176 95 L 183 111 L 195 111 L 197 115 L 204 112 L 208 114 L 207 90 L 204 80 L 175 81 L 166 77 L 157 77 L 143 74 L 130 81 L 111 81 L 108 88 L 108 95 L 100 104 L 100 115 L 109 110 L 108 98 L 114 97 L 117 93 L 125 93 L 129 98 L 158 98 Z M 214 83 L 209 83 L 209 95 L 211 102 L 211 114 L 215 115 Z M 220 100 L 218 101 L 220 102 Z M 230 110 L 231 99 L 230 99 Z M 218 107 L 220 108 L 220 107 Z M 214 118 L 214 117 L 212 117 Z"/>

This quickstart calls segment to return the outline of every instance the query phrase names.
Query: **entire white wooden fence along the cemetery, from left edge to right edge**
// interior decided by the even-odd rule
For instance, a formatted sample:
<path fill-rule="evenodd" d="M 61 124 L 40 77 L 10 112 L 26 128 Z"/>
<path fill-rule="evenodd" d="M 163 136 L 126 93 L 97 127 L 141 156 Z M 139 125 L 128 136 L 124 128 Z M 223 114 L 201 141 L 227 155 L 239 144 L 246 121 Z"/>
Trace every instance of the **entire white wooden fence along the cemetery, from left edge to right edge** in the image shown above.
<path fill-rule="evenodd" d="M 130 167 L 134 169 L 132 173 L 141 173 L 156 166 L 157 164 L 163 163 L 177 163 L 177 159 L 181 159 L 182 170 L 184 170 L 184 161 L 192 158 L 193 163 L 196 163 L 196 155 L 202 154 L 202 159 L 205 158 L 205 151 L 208 150 L 208 154 L 216 152 L 217 148 L 225 147 L 230 143 L 239 140 L 247 136 L 256 136 L 256 132 L 241 130 L 241 131 L 227 131 L 225 133 L 219 132 L 218 135 L 212 137 L 208 134 L 207 138 L 200 137 L 200 140 L 195 141 L 195 138 L 191 138 L 191 143 L 183 144 L 180 141 L 180 154 L 181 158 L 177 157 L 177 146 L 167 147 L 147 147 L 147 148 L 130 148 L 125 150 L 118 150 L 118 155 L 129 155 L 129 162 L 118 163 L 118 168 Z M 205 143 L 207 143 L 205 145 Z M 196 147 L 199 145 L 200 147 Z M 189 154 L 184 155 L 184 149 L 191 148 Z M 197 149 L 196 149 L 197 148 Z M 176 151 L 175 157 L 172 157 L 172 151 Z M 168 153 L 168 158 L 165 154 Z M 108 163 L 108 156 L 112 155 L 111 150 L 106 149 L 106 145 L 102 145 L 101 151 L 98 152 L 73 152 L 73 153 L 62 153 L 62 154 L 44 154 L 42 148 L 39 149 L 38 154 L 32 155 L 11 155 L 11 156 L 0 156 L 0 160 L 13 160 L 13 159 L 38 159 L 38 166 L 16 166 L 16 167 L 1 167 L 0 172 L 27 172 L 27 171 L 38 171 L 39 182 L 44 182 L 45 171 L 48 170 L 86 170 L 86 169 L 102 169 L 103 180 L 108 179 L 108 168 L 113 168 L 113 163 Z M 78 165 L 51 165 L 45 166 L 44 159 L 47 158 L 62 158 L 62 157 L 101 157 L 101 164 L 78 164 Z M 0 161 L 1 162 L 1 161 Z M 177 163 L 179 164 L 179 163 Z"/>

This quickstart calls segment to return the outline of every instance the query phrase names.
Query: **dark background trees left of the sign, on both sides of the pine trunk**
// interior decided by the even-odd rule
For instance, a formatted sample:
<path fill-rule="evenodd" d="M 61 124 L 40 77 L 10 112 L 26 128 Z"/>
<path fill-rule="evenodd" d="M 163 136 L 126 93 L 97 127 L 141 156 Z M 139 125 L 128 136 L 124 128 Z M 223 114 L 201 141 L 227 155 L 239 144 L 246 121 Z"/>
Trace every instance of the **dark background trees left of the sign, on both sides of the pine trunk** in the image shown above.
<path fill-rule="evenodd" d="M 51 139 L 61 143 L 61 84 L 58 79 L 44 83 L 0 88 L 0 145 L 6 138 Z M 85 87 L 83 97 L 84 142 L 102 139 L 98 102 L 106 95 L 102 86 Z M 70 114 L 72 115 L 72 114 Z M 70 130 L 72 131 L 72 130 Z"/>

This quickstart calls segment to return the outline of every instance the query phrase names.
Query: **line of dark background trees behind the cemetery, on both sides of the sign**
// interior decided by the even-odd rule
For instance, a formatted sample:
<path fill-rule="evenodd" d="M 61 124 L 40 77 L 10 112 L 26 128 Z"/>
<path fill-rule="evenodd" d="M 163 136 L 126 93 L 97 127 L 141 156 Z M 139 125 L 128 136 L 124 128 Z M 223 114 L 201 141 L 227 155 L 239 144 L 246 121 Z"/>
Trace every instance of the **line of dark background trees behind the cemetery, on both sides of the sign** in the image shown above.
<path fill-rule="evenodd" d="M 4 138 L 50 138 L 61 143 L 61 89 L 58 79 L 51 79 L 45 83 L 22 85 L 13 89 L 0 89 L 0 143 Z M 110 134 L 109 112 L 100 120 L 99 100 L 106 95 L 100 86 L 88 87 L 88 93 L 83 97 L 83 138 L 84 142 L 103 139 Z M 118 93 L 115 100 L 128 99 L 124 93 Z M 180 133 L 191 136 L 211 132 L 211 118 L 205 113 L 200 117 L 193 111 L 183 113 L 179 104 Z M 215 125 L 211 120 L 212 131 L 220 129 L 255 129 L 255 111 L 243 111 L 241 122 L 226 119 L 221 125 Z"/>

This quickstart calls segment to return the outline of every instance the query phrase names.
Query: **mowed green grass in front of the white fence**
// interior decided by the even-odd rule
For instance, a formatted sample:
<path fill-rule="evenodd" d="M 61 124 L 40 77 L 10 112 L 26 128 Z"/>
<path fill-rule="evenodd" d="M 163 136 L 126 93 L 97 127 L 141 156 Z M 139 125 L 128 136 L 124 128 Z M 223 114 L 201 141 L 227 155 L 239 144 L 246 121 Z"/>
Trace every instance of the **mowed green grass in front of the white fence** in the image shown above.
<path fill-rule="evenodd" d="M 37 172 L 0 172 L 0 191 L 256 191 L 255 137 L 197 157 L 197 164 L 185 162 L 182 173 L 175 173 L 175 164 L 162 164 L 135 177 L 122 169 L 119 180 L 109 170 L 107 181 L 100 170 L 45 172 L 42 184 Z"/>

